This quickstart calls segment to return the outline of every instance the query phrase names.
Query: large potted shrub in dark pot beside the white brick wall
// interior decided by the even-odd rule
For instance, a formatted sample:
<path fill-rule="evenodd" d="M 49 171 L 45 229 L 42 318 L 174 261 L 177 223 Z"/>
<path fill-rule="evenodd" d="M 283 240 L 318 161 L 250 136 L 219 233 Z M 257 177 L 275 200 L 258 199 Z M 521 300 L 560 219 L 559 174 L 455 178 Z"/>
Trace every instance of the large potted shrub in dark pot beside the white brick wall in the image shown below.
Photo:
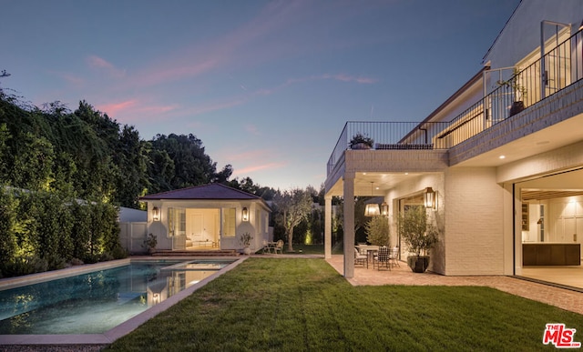
<path fill-rule="evenodd" d="M 438 232 L 433 224 L 427 222 L 424 206 L 414 206 L 399 214 L 399 232 L 413 256 L 407 256 L 407 265 L 415 273 L 424 273 L 429 267 L 427 251 L 437 241 Z"/>

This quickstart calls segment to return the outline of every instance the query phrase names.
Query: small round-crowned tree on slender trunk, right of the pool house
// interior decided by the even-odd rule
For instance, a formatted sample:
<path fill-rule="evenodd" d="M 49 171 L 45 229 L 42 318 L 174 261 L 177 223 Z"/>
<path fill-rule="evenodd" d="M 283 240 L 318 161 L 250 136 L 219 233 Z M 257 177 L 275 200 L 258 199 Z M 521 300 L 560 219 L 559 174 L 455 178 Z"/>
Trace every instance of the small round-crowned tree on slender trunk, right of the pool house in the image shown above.
<path fill-rule="evenodd" d="M 312 212 L 312 196 L 301 188 L 293 188 L 274 198 L 280 214 L 278 222 L 285 229 L 288 251 L 293 251 L 293 227 L 298 226 Z"/>

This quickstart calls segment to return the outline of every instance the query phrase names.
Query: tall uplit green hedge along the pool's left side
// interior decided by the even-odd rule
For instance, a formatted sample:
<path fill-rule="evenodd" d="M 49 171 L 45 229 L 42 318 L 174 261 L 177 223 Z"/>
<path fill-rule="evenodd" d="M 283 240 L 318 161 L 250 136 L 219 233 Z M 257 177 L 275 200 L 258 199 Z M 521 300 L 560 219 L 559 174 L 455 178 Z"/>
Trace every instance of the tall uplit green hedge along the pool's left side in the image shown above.
<path fill-rule="evenodd" d="M 0 277 L 126 256 L 117 206 L 10 187 L 0 202 Z"/>

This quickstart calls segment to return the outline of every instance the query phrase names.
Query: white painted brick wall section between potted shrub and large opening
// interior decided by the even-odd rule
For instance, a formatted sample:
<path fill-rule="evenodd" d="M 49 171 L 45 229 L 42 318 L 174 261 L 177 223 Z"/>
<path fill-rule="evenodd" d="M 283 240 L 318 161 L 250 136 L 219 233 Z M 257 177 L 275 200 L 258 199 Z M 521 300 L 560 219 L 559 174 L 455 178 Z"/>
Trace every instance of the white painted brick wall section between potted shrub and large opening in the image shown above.
<path fill-rule="evenodd" d="M 445 172 L 445 275 L 505 274 L 504 193 L 494 167 Z"/>

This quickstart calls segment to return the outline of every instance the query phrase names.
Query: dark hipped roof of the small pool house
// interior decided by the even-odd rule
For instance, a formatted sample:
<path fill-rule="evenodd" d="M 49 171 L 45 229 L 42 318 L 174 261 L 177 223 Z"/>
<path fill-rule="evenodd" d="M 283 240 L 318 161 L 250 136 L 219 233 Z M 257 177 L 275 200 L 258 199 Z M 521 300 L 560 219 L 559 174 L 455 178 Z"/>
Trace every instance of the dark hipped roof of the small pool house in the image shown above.
<path fill-rule="evenodd" d="M 182 189 L 175 189 L 168 192 L 156 193 L 154 195 L 142 196 L 140 200 L 263 200 L 261 196 L 251 195 L 251 193 L 240 191 L 221 184 L 209 184 L 202 186 L 192 186 Z"/>

